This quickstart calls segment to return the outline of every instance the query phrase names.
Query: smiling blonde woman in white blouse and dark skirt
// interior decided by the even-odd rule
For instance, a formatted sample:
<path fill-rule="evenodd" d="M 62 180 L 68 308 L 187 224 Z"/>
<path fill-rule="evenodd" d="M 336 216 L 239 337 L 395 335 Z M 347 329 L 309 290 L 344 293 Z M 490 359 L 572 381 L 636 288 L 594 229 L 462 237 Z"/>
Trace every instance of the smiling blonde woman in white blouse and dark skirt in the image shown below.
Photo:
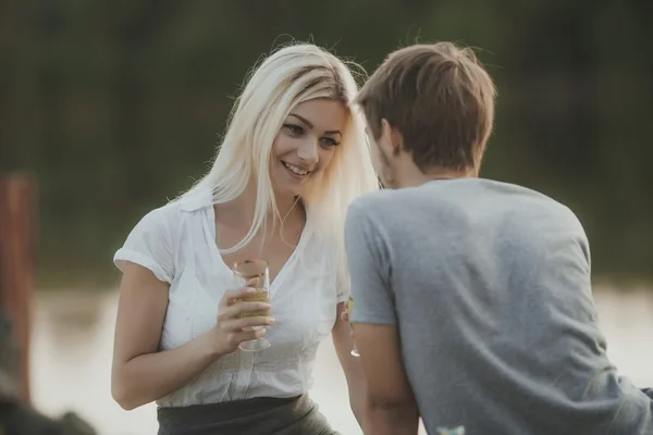
<path fill-rule="evenodd" d="M 347 66 L 312 45 L 268 57 L 237 99 L 209 173 L 148 213 L 114 261 L 123 272 L 112 395 L 158 403 L 159 434 L 332 434 L 307 396 L 332 335 L 352 409 L 364 384 L 341 319 L 344 217 L 378 188 Z M 232 265 L 269 263 L 272 318 L 238 302 Z M 249 326 L 266 326 L 251 331 Z M 266 335 L 271 346 L 239 344 Z"/>

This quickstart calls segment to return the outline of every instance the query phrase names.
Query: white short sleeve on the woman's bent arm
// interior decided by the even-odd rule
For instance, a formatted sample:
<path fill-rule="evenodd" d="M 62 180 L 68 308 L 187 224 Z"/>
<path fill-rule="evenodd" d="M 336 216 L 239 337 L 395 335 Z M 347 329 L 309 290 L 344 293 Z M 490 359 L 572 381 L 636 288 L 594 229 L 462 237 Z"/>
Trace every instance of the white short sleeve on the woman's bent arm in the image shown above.
<path fill-rule="evenodd" d="M 150 270 L 157 279 L 172 284 L 174 277 L 174 249 L 171 232 L 172 216 L 165 207 L 146 214 L 132 229 L 113 262 L 124 272 L 125 262 Z"/>

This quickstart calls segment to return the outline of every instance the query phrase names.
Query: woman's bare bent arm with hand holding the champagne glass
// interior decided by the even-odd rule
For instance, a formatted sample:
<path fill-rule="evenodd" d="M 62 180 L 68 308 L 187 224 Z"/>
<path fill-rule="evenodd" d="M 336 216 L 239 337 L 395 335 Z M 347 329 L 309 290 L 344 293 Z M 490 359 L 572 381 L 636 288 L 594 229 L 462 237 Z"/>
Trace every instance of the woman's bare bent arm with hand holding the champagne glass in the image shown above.
<path fill-rule="evenodd" d="M 217 326 L 172 350 L 158 352 L 168 309 L 169 285 L 147 269 L 126 262 L 120 289 L 111 394 L 124 409 L 138 408 L 181 388 L 243 340 L 258 338 L 264 330 L 243 332 L 251 325 L 271 324 L 266 318 L 234 319 L 239 312 L 260 310 L 258 302 L 235 303 L 252 291 L 225 293 Z"/>

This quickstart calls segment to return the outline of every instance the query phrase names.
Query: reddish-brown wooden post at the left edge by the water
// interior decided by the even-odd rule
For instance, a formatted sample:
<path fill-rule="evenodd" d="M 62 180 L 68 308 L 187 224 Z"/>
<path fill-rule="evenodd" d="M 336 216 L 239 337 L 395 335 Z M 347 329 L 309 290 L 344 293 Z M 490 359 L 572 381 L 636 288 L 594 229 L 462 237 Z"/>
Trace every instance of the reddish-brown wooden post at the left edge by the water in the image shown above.
<path fill-rule="evenodd" d="M 23 174 L 0 176 L 0 309 L 12 323 L 21 397 L 29 401 L 29 333 L 34 287 L 36 184 Z"/>

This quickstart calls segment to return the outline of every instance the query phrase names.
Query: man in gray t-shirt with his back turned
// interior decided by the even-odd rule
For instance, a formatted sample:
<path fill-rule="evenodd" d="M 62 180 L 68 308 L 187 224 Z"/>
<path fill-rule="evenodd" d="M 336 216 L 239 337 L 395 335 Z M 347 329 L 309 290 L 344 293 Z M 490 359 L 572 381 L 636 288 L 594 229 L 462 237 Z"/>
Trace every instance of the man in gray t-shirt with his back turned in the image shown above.
<path fill-rule="evenodd" d="M 346 224 L 365 432 L 653 434 L 653 400 L 617 375 L 574 213 L 478 178 L 495 89 L 453 44 L 398 50 L 357 103 L 389 188 Z"/>

